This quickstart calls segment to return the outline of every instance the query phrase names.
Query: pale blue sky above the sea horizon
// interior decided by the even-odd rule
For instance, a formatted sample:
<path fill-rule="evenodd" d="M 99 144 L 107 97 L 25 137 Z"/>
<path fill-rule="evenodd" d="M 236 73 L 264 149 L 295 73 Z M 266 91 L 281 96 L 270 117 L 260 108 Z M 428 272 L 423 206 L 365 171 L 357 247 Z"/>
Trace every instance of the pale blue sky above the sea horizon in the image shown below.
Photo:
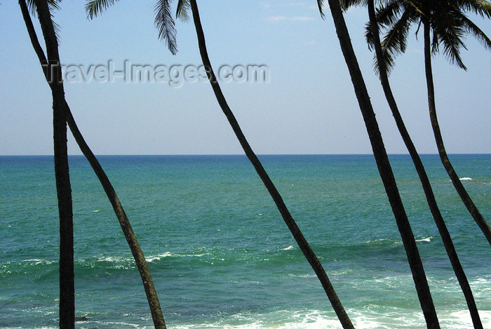
<path fill-rule="evenodd" d="M 121 0 L 88 20 L 85 1 L 65 0 L 54 13 L 65 94 L 81 133 L 95 154 L 242 154 L 210 84 L 192 79 L 201 65 L 194 25 L 176 22 L 179 51 L 172 55 L 154 27 L 155 2 Z M 237 68 L 220 83 L 257 154 L 372 153 L 328 8 L 322 20 L 314 0 L 198 5 L 215 71 Z M 491 36 L 491 20 L 469 17 Z M 350 9 L 345 19 L 387 152 L 405 154 L 363 37 L 365 8 Z M 17 1 L 0 4 L 0 31 L 0 155 L 53 154 L 51 92 Z M 36 31 L 43 44 L 37 23 Z M 417 39 L 413 29 L 409 40 L 391 85 L 418 151 L 433 154 L 422 34 Z M 438 119 L 448 153 L 490 154 L 491 51 L 472 38 L 466 46 L 467 72 L 433 58 Z M 122 72 L 125 63 L 161 75 L 109 79 L 109 67 Z M 267 81 L 240 79 L 250 65 L 265 67 Z M 181 78 L 190 67 L 189 81 L 168 83 L 172 67 Z M 71 135 L 69 154 L 81 154 Z"/>

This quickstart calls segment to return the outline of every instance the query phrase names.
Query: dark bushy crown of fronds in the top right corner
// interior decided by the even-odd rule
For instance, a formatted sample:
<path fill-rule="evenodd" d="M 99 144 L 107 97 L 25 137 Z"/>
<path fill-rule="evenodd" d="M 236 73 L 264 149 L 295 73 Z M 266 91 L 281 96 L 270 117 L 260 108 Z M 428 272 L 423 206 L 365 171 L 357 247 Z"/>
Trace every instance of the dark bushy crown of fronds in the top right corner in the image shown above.
<path fill-rule="evenodd" d="M 362 4 L 363 0 L 342 0 L 349 4 Z M 412 25 L 417 25 L 417 32 L 424 20 L 429 22 L 433 37 L 431 39 L 431 52 L 440 53 L 452 64 L 466 69 L 460 51 L 466 49 L 464 38 L 466 35 L 474 36 L 483 46 L 491 50 L 491 40 L 467 16 L 466 12 L 473 12 L 483 18 L 491 18 L 491 3 L 485 0 L 387 0 L 377 9 L 377 22 L 386 28 L 387 32 L 382 40 L 384 62 L 390 70 L 394 67 L 394 58 L 405 52 L 408 43 L 408 34 Z M 367 41 L 373 46 L 370 29 L 367 28 Z"/>

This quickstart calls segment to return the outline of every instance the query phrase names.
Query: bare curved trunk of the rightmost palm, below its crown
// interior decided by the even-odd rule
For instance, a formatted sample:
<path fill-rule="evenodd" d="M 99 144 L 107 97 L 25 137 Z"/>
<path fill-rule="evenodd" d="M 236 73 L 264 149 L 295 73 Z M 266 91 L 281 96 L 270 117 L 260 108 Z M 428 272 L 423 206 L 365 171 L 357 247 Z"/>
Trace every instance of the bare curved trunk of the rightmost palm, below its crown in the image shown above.
<path fill-rule="evenodd" d="M 433 86 L 433 72 L 431 69 L 431 41 L 430 41 L 430 24 L 429 21 L 424 19 L 424 69 L 426 72 L 426 87 L 428 88 L 428 105 L 429 114 L 431 120 L 431 128 L 433 128 L 433 135 L 435 135 L 436 147 L 438 148 L 438 154 L 440 155 L 440 160 L 443 163 L 443 167 L 447 170 L 452 184 L 454 184 L 455 190 L 462 199 L 462 202 L 466 206 L 469 213 L 471 213 L 473 219 L 478 224 L 478 227 L 483 231 L 487 242 L 491 245 L 491 227 L 487 223 L 483 215 L 473 203 L 471 197 L 467 193 L 464 185 L 459 180 L 459 176 L 455 173 L 455 170 L 448 159 L 447 151 L 445 150 L 445 145 L 443 144 L 443 137 L 440 133 L 440 125 L 438 123 L 438 118 L 436 116 L 436 104 L 435 104 L 435 88 Z"/>

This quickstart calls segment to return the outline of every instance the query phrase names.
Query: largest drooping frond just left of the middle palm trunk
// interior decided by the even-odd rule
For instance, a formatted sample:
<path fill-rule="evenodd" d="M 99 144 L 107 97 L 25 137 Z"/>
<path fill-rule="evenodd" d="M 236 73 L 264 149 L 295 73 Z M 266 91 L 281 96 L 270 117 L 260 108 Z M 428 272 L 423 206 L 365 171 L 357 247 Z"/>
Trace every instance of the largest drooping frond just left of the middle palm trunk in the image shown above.
<path fill-rule="evenodd" d="M 177 53 L 175 22 L 170 13 L 170 3 L 168 0 L 159 0 L 155 4 L 155 27 L 159 30 L 159 39 L 162 39 L 168 46 L 170 53 Z"/>

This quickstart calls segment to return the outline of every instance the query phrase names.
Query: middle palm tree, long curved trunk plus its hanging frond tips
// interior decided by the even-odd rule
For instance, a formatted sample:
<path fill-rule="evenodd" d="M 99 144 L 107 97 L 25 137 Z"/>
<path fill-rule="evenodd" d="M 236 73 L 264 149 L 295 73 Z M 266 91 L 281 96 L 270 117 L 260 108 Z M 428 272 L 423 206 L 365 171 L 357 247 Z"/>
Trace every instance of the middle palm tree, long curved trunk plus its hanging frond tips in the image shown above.
<path fill-rule="evenodd" d="M 88 4 L 86 4 L 88 17 L 93 18 L 95 15 L 98 15 L 100 11 L 102 11 L 102 9 L 105 9 L 107 8 L 107 6 L 114 4 L 114 2 L 115 1 L 108 1 L 108 0 L 88 1 Z M 161 39 L 166 41 L 170 52 L 174 54 L 177 51 L 177 46 L 175 42 L 176 31 L 174 27 L 174 21 L 170 12 L 169 2 L 170 1 L 166 1 L 166 0 L 157 1 L 155 6 L 155 10 L 156 10 L 155 25 L 159 29 L 159 37 L 161 37 Z M 344 310 L 344 307 L 341 304 L 341 301 L 339 300 L 339 297 L 337 296 L 334 288 L 332 287 L 332 283 L 330 282 L 328 275 L 325 273 L 325 270 L 323 269 L 321 262 L 316 257 L 314 250 L 312 250 L 312 248 L 309 246 L 309 243 L 307 242 L 304 235 L 302 234 L 302 231 L 300 231 L 300 228 L 297 226 L 295 220 L 293 220 L 292 215 L 290 214 L 288 208 L 286 207 L 281 195 L 279 194 L 278 190 L 276 189 L 273 182 L 269 178 L 269 175 L 267 174 L 266 170 L 264 170 L 262 163 L 253 152 L 253 149 L 250 147 L 247 139 L 245 138 L 245 135 L 241 130 L 241 127 L 239 126 L 234 114 L 231 112 L 231 109 L 227 104 L 227 100 L 224 98 L 224 95 L 217 81 L 215 73 L 213 72 L 213 67 L 211 66 L 210 58 L 208 57 L 208 51 L 206 50 L 205 36 L 203 32 L 203 27 L 201 26 L 201 20 L 199 18 L 199 10 L 196 4 L 196 0 L 179 0 L 177 4 L 177 16 L 179 16 L 183 20 L 188 20 L 189 16 L 187 14 L 187 10 L 189 8 L 191 8 L 194 25 L 196 27 L 196 34 L 198 36 L 201 60 L 203 61 L 203 65 L 206 69 L 206 74 L 208 75 L 208 80 L 211 83 L 218 104 L 222 108 L 222 111 L 224 112 L 225 116 L 227 117 L 227 120 L 229 121 L 232 130 L 234 130 L 234 133 L 238 141 L 240 142 L 250 163 L 253 164 L 264 186 L 266 187 L 269 194 L 273 198 L 276 207 L 278 208 L 279 212 L 281 213 L 281 216 L 283 217 L 283 220 L 285 221 L 285 224 L 287 225 L 288 229 L 290 229 L 292 236 L 295 238 L 295 241 L 297 241 L 298 246 L 302 250 L 302 253 L 304 253 L 304 256 L 307 258 L 312 269 L 314 269 L 319 281 L 321 281 L 325 293 L 326 295 L 328 295 L 330 303 L 332 304 L 332 307 L 335 310 L 337 317 L 339 318 L 339 321 L 342 323 L 343 328 L 345 329 L 354 328 L 353 324 L 351 323 L 351 320 L 349 319 L 349 316 L 347 315 L 346 311 Z"/>

